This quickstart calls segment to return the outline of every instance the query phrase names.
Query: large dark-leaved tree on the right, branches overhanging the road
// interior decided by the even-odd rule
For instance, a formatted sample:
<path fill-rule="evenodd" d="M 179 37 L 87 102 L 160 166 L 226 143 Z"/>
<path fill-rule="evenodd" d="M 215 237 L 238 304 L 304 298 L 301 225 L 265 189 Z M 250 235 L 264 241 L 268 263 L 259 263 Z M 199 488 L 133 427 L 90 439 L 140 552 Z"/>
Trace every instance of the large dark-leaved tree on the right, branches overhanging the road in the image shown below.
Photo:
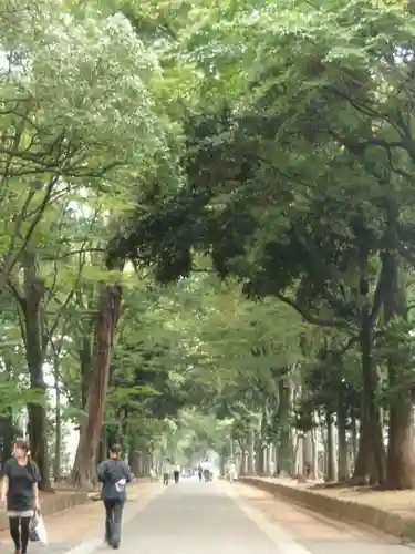
<path fill-rule="evenodd" d="M 132 257 L 156 263 L 162 281 L 189 275 L 193 254 L 211 252 L 217 271 L 237 276 L 249 295 L 274 296 L 309 322 L 356 340 L 363 387 L 355 473 L 392 488 L 412 486 L 412 454 L 401 448 L 411 435 L 411 394 L 401 388 L 391 398 L 394 470 L 385 465 L 374 348 L 381 314 L 386 321 L 406 315 L 400 268 L 409 257 L 411 226 L 400 205 L 413 202 L 404 123 L 412 62 L 405 54 L 397 68 L 394 53 L 407 45 L 409 20 L 360 1 L 339 2 L 335 17 L 329 4 L 300 2 L 267 6 L 252 24 L 243 6 L 232 32 L 225 19 L 214 38 L 207 19 L 198 45 L 212 53 L 210 73 L 191 41 L 188 55 L 206 80 L 215 73 L 215 91 L 229 79 L 224 58 L 234 75 L 250 64 L 250 93 L 241 86 L 232 106 L 230 91 L 225 107 L 217 102 L 210 112 L 201 99 L 187 125 L 187 189 L 166 191 L 156 205 L 147 198 L 124 244 Z M 373 41 L 373 29 L 387 44 Z M 238 43 L 245 51 L 236 61 L 230 47 Z M 396 382 L 402 372 L 392 359 L 388 366 Z"/>

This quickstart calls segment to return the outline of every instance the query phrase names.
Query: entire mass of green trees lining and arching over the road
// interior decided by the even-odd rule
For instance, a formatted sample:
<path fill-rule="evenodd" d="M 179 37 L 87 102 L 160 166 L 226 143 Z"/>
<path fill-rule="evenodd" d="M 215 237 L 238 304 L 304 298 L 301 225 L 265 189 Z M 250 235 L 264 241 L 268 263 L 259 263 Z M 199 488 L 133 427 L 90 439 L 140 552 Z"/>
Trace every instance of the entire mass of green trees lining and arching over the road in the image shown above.
<path fill-rule="evenodd" d="M 17 1 L 0 18 L 0 406 L 50 486 L 415 486 L 411 6 Z"/>

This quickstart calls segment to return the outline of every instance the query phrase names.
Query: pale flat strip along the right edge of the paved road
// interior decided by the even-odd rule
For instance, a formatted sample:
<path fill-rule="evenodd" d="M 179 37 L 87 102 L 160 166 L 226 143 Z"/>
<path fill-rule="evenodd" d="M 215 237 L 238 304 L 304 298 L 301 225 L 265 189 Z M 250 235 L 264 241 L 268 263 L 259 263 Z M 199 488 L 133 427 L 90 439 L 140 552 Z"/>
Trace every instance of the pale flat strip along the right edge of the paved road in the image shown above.
<path fill-rule="evenodd" d="M 299 544 L 281 525 L 276 522 L 269 522 L 259 510 L 252 509 L 239 496 L 239 494 L 234 493 L 231 485 L 225 488 L 225 491 L 237 504 L 239 510 L 241 510 L 257 527 L 268 536 L 272 544 L 278 547 L 278 552 L 281 552 L 281 554 L 311 554 L 309 550 Z"/>

